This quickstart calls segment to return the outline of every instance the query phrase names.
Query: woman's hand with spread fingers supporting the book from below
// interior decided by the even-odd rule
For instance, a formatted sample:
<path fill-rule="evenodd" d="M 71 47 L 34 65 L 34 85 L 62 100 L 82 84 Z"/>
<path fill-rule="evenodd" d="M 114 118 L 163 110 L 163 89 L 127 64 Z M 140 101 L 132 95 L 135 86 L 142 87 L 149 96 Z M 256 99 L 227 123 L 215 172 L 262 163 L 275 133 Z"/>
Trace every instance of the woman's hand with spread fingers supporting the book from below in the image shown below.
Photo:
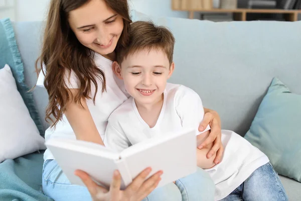
<path fill-rule="evenodd" d="M 120 190 L 121 176 L 117 170 L 114 171 L 109 190 L 96 184 L 84 171 L 76 170 L 75 175 L 84 182 L 93 201 L 138 201 L 152 192 L 161 180 L 162 171 L 145 180 L 151 170 L 151 168 L 143 170 L 124 190 Z"/>

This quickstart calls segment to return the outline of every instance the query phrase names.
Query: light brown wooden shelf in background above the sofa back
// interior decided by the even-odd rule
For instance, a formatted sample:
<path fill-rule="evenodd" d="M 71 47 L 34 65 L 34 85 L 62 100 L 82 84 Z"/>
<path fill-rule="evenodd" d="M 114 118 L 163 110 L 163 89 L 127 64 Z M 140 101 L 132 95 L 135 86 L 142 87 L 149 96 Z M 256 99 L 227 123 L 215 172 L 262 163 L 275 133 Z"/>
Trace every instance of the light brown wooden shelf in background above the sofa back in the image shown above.
<path fill-rule="evenodd" d="M 262 14 L 284 14 L 284 18 L 286 21 L 297 21 L 298 14 L 301 14 L 301 10 L 279 10 L 279 9 L 179 9 L 175 8 L 174 4 L 172 4 L 174 11 L 188 11 L 189 18 L 194 18 L 194 12 L 202 12 L 202 13 L 233 13 L 234 20 L 236 21 L 246 21 L 246 15 L 248 13 L 262 13 Z"/>

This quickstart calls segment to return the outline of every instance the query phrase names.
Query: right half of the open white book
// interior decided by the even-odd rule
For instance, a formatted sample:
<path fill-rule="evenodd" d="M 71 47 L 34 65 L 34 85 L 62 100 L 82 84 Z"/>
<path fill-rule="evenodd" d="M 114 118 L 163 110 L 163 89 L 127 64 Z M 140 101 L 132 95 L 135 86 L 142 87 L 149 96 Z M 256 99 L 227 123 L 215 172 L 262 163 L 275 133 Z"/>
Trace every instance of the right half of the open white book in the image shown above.
<path fill-rule="evenodd" d="M 146 167 L 152 167 L 149 175 L 163 170 L 159 186 L 192 174 L 197 168 L 196 130 L 156 136 L 135 144 L 120 153 L 126 161 L 132 178 Z"/>

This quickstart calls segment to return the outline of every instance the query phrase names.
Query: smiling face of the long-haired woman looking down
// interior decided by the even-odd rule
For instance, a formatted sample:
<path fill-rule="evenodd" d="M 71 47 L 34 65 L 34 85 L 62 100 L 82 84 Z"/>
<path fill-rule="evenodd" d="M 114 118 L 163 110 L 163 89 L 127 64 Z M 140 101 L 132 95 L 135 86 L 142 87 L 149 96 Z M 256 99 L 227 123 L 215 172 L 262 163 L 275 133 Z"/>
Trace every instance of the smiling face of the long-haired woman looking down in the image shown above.
<path fill-rule="evenodd" d="M 104 0 L 91 0 L 69 13 L 69 24 L 81 44 L 111 59 L 123 30 L 123 19 Z"/>

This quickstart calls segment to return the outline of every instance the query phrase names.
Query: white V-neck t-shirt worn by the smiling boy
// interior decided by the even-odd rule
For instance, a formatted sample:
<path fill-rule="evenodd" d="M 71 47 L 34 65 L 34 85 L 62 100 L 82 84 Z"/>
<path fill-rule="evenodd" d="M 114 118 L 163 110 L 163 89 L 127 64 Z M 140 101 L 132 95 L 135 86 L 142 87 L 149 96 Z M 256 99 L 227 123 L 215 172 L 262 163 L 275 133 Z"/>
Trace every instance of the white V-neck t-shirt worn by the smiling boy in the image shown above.
<path fill-rule="evenodd" d="M 198 128 L 203 118 L 200 96 L 188 87 L 168 83 L 155 127 L 149 128 L 143 121 L 134 99 L 130 97 L 109 117 L 104 143 L 122 151 L 156 135 Z M 225 148 L 222 161 L 213 168 L 205 169 L 216 185 L 215 200 L 226 197 L 254 170 L 269 161 L 259 149 L 233 131 L 222 130 L 222 143 Z"/>

